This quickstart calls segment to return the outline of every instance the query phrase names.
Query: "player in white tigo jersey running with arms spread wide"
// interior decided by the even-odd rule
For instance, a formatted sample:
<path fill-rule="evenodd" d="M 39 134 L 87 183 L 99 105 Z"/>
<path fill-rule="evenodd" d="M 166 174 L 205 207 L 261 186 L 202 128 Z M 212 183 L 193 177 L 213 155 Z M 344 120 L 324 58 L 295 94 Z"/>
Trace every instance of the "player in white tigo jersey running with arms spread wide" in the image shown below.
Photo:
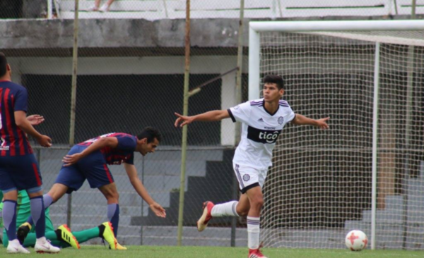
<path fill-rule="evenodd" d="M 284 94 L 283 78 L 266 75 L 264 98 L 242 103 L 226 110 L 214 110 L 196 116 L 182 116 L 175 113 L 175 127 L 194 121 L 220 121 L 231 118 L 242 123 L 242 139 L 235 150 L 232 166 L 240 185 L 239 201 L 213 204 L 204 203 L 204 212 L 197 221 L 199 231 L 204 231 L 208 221 L 218 216 L 247 216 L 249 258 L 266 258 L 259 250 L 259 224 L 264 204 L 262 187 L 269 166 L 272 166 L 272 150 L 278 135 L 286 123 L 314 125 L 328 129 L 327 118 L 314 120 L 294 113 L 287 102 L 281 100 Z"/>

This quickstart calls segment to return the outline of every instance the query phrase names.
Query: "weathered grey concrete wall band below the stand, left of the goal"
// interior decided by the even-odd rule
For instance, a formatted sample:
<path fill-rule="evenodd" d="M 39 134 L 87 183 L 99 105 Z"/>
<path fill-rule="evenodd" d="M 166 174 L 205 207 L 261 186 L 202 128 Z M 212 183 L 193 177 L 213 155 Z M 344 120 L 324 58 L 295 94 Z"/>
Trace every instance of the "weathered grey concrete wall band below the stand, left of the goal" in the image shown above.
<path fill-rule="evenodd" d="M 78 46 L 184 47 L 185 20 L 80 20 Z M 192 20 L 192 47 L 237 47 L 236 19 Z M 247 46 L 247 23 L 245 25 Z M 2 49 L 66 49 L 73 20 L 0 20 Z"/>

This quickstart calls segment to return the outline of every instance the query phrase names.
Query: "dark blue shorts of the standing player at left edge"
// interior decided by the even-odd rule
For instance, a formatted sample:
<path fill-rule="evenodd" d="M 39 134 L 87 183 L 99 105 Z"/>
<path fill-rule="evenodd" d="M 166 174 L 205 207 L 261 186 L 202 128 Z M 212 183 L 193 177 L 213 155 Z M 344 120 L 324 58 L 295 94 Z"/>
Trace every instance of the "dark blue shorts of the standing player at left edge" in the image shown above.
<path fill-rule="evenodd" d="M 40 168 L 34 154 L 0 157 L 0 190 L 42 190 Z"/>

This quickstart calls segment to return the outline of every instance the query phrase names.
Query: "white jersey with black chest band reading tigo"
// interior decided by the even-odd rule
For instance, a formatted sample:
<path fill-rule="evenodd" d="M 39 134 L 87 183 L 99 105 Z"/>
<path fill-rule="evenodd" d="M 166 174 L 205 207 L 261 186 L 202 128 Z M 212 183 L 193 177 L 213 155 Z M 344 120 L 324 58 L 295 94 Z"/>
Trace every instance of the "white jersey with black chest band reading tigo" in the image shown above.
<path fill-rule="evenodd" d="M 275 113 L 269 113 L 264 104 L 264 99 L 255 99 L 228 109 L 232 121 L 242 123 L 242 139 L 232 159 L 235 164 L 258 169 L 272 166 L 272 150 L 278 135 L 295 118 L 295 113 L 284 100 L 279 101 Z"/>

